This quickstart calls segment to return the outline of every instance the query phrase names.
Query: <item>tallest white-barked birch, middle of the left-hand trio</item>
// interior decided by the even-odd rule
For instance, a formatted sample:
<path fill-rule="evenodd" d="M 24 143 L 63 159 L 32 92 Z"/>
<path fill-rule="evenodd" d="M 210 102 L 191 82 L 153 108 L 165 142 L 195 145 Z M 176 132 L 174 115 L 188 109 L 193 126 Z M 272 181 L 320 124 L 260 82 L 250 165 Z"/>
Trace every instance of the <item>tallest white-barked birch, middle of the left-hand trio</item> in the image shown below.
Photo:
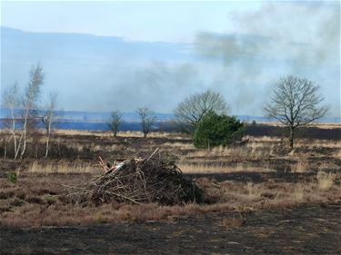
<path fill-rule="evenodd" d="M 19 139 L 17 152 L 15 152 L 15 158 L 17 153 L 21 149 L 20 158 L 25 154 L 27 143 L 27 130 L 29 125 L 35 121 L 36 103 L 40 94 L 41 85 L 44 82 L 43 68 L 40 64 L 32 66 L 30 70 L 30 79 L 25 89 L 25 95 L 23 98 L 23 113 L 22 113 L 22 132 Z"/>

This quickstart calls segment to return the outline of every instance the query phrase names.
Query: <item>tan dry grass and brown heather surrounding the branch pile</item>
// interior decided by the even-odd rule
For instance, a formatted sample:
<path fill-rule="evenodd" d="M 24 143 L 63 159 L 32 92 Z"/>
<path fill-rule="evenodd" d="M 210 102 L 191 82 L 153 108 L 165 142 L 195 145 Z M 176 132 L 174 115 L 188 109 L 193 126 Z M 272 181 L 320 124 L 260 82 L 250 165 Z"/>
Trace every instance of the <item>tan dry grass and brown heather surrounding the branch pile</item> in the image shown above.
<path fill-rule="evenodd" d="M 63 137 L 63 133 L 84 136 L 74 139 Z M 150 152 L 157 146 L 162 152 L 178 156 L 180 160 L 177 165 L 185 173 L 239 172 L 231 176 L 244 176 L 243 172 L 246 172 L 246 177 L 254 174 L 262 176 L 263 182 L 246 183 L 197 178 L 196 183 L 206 192 L 205 204 L 160 206 L 155 203 L 143 205 L 110 203 L 98 207 L 92 204 L 82 207 L 65 200 L 63 185 L 72 186 L 90 180 L 99 170 L 85 161 L 95 159 L 95 153 L 86 158 L 87 160 L 72 162 L 27 161 L 25 166 L 20 167 L 22 172 L 15 184 L 0 178 L 0 224 L 29 227 L 118 221 L 169 221 L 180 215 L 193 213 L 213 211 L 244 213 L 341 201 L 340 173 L 327 173 L 337 172 L 340 169 L 336 159 L 341 158 L 341 143 L 337 141 L 297 139 L 297 150 L 292 155 L 288 155 L 287 151 L 281 150 L 283 149 L 280 147 L 281 139 L 278 137 L 249 137 L 250 142 L 246 146 L 198 150 L 189 143 L 188 137 L 179 134 L 151 133 L 149 137 L 172 138 L 172 140 L 147 139 L 146 142 L 141 142 L 140 139 L 128 139 L 142 137 L 140 132 L 120 132 L 120 136 L 127 138 L 125 144 L 114 142 L 111 135 L 110 132 L 62 131 L 57 139 L 61 144 L 79 151 L 72 159 L 77 159 L 78 155 L 82 156 L 84 144 L 91 152 L 105 152 L 103 157 L 106 159 L 115 157 L 115 153 L 121 156 L 121 154 L 133 155 L 135 152 Z M 123 140 L 125 139 L 121 141 Z M 135 141 L 138 142 L 134 143 Z M 8 169 L 15 171 L 16 166 L 13 165 L 15 166 L 16 162 L 8 164 Z M 283 176 L 278 172 L 280 177 L 274 177 L 277 173 L 271 173 L 290 165 L 292 170 L 297 172 L 290 176 L 304 178 L 286 179 L 285 172 Z M 310 170 L 320 170 L 320 172 L 315 178 Z M 282 177 L 283 179 L 279 180 Z M 239 223 L 241 222 L 238 219 L 227 219 L 222 222 L 222 225 L 234 228 Z"/>

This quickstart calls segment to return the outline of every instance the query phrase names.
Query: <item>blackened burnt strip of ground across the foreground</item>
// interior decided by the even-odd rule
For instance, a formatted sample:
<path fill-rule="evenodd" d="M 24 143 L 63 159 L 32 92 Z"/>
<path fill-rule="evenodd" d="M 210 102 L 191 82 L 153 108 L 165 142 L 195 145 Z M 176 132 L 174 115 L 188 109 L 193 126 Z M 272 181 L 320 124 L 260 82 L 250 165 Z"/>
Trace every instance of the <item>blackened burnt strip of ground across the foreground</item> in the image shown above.
<path fill-rule="evenodd" d="M 169 222 L 88 227 L 0 228 L 1 254 L 341 254 L 341 204 L 246 214 L 211 213 Z"/>

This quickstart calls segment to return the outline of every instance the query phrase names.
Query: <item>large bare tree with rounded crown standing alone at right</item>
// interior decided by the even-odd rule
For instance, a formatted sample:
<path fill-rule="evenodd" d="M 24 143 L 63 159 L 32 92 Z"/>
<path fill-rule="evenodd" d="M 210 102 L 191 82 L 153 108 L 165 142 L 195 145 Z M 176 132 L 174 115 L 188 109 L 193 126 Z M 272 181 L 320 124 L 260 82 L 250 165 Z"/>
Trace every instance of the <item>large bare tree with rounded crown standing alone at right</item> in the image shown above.
<path fill-rule="evenodd" d="M 316 83 L 292 75 L 276 83 L 265 112 L 268 117 L 275 118 L 289 128 L 290 148 L 294 148 L 296 128 L 314 123 L 328 113 L 326 106 L 320 106 L 324 97 L 318 90 Z"/>

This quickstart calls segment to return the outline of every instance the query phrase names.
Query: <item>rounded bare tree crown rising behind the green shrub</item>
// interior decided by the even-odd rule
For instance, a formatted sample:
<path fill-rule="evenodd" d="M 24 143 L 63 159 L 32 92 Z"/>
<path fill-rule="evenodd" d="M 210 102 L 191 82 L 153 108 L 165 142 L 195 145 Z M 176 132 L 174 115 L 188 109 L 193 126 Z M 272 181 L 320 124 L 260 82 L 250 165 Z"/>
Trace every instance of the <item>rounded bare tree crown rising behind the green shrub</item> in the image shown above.
<path fill-rule="evenodd" d="M 179 103 L 174 110 L 176 124 L 184 132 L 196 130 L 197 123 L 206 113 L 215 112 L 217 114 L 227 113 L 226 100 L 220 93 L 207 90 L 204 93 L 195 93 Z"/>

